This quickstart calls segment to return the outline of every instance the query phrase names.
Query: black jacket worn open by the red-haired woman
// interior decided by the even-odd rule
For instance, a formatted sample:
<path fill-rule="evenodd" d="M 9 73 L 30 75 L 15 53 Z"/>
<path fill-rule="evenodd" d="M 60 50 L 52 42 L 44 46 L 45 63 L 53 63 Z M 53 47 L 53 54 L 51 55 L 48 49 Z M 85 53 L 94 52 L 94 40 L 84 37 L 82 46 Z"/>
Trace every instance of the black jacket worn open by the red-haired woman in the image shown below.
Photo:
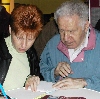
<path fill-rule="evenodd" d="M 32 46 L 26 53 L 29 60 L 30 75 L 40 76 L 38 57 L 34 47 Z M 0 39 L 0 83 L 1 84 L 3 84 L 5 80 L 11 60 L 12 56 L 8 51 L 5 39 L 2 38 Z"/>

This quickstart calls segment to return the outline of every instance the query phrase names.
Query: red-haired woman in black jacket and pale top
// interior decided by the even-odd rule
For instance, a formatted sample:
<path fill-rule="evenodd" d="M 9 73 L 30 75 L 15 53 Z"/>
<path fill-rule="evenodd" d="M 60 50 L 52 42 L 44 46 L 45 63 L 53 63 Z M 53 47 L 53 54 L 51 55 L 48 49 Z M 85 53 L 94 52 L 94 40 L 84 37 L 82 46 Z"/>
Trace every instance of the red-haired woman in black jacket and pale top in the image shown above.
<path fill-rule="evenodd" d="M 23 87 L 36 91 L 40 81 L 33 43 L 43 26 L 41 10 L 21 4 L 10 18 L 10 36 L 0 40 L 0 83 L 5 90 Z"/>

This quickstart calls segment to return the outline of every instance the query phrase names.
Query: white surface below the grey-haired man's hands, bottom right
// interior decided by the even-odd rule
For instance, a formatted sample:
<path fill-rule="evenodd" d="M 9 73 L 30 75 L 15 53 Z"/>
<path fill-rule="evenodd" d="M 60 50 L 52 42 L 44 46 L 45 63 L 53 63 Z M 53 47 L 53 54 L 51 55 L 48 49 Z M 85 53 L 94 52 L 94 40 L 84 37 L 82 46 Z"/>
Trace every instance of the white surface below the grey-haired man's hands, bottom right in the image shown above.
<path fill-rule="evenodd" d="M 100 99 L 100 93 L 89 89 L 68 89 L 57 90 L 52 93 L 53 96 L 67 96 L 67 97 L 85 97 L 86 99 Z"/>

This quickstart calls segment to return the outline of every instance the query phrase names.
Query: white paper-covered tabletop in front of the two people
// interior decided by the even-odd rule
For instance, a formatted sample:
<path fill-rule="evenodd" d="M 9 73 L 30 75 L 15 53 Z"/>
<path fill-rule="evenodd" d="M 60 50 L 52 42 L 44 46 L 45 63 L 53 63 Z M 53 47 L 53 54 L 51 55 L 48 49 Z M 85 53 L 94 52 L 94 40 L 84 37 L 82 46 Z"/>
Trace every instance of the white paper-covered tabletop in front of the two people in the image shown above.
<path fill-rule="evenodd" d="M 53 96 L 66 96 L 66 97 L 85 97 L 86 99 L 100 99 L 100 92 L 96 92 L 86 88 L 54 90 L 52 89 L 52 84 L 53 83 L 51 82 L 45 82 L 45 81 L 40 82 L 37 92 L 32 92 L 31 90 L 25 90 L 24 88 L 18 88 L 7 91 L 6 93 L 8 96 L 13 98 L 15 97 L 17 99 L 35 99 L 36 97 L 43 94 L 48 94 Z M 46 93 L 47 90 L 49 91 L 49 93 Z"/>

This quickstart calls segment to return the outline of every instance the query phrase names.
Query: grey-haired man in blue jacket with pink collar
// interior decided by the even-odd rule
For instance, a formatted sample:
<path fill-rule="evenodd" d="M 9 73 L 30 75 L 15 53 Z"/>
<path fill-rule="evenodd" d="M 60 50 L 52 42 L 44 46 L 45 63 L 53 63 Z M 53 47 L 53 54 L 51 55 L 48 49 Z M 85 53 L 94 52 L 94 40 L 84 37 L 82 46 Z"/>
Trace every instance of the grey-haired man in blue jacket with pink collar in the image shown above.
<path fill-rule="evenodd" d="M 84 2 L 70 0 L 54 13 L 59 34 L 46 44 L 39 64 L 53 87 L 100 91 L 100 33 L 89 24 L 88 10 Z"/>

